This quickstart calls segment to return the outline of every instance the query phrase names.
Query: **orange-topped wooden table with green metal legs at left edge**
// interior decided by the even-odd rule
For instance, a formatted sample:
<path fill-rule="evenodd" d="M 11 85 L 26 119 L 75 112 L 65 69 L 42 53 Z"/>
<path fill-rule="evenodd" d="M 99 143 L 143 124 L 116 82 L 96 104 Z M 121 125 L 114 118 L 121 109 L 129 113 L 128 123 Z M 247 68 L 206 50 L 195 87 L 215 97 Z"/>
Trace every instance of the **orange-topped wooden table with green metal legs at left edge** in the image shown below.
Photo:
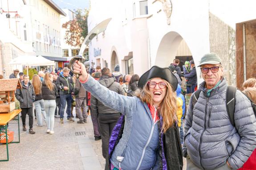
<path fill-rule="evenodd" d="M 12 119 L 14 119 L 16 116 L 18 117 L 17 119 L 14 119 L 14 120 L 18 121 L 19 141 L 10 142 L 10 143 L 20 143 L 20 118 L 19 118 L 20 112 L 21 112 L 21 110 L 14 110 L 11 113 L 0 113 L 0 127 L 1 126 L 4 127 L 4 132 L 5 132 L 6 136 L 7 136 L 7 123 L 10 122 Z M 0 132 L 2 132 L 2 131 L 0 130 Z M 7 159 L 0 160 L 0 162 L 1 161 L 9 161 L 8 142 L 6 142 L 6 152 L 7 152 Z"/>

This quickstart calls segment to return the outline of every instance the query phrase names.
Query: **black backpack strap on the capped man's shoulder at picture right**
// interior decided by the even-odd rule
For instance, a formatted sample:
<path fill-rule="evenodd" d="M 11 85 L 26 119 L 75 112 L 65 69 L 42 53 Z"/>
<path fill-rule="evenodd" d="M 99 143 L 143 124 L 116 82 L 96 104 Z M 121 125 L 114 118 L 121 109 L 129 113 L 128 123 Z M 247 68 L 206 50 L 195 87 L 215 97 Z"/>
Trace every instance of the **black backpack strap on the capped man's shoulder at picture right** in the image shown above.
<path fill-rule="evenodd" d="M 236 87 L 228 86 L 226 92 L 226 107 L 230 123 L 235 127 L 235 105 L 236 105 Z"/>

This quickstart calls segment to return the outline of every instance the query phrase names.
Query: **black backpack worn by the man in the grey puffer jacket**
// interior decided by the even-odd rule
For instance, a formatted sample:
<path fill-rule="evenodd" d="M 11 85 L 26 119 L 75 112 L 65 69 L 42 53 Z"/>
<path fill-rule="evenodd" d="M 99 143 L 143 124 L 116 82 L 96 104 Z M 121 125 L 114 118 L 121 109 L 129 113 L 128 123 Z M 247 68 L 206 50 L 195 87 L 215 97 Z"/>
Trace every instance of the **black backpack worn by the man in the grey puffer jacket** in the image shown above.
<path fill-rule="evenodd" d="M 233 127 L 235 127 L 234 114 L 235 114 L 235 105 L 236 105 L 236 90 L 237 90 L 236 87 L 228 86 L 227 93 L 226 93 L 226 107 L 227 107 L 227 111 L 228 111 L 228 118 L 230 120 L 230 123 L 233 125 Z M 197 99 L 199 98 L 200 92 L 201 92 L 200 89 L 195 91 L 195 93 L 192 97 L 192 108 L 194 108 L 195 103 L 197 102 Z M 246 97 L 248 98 L 248 96 L 246 96 Z M 256 104 L 253 103 L 251 99 L 249 99 L 249 100 L 251 102 L 254 115 L 256 117 Z"/>

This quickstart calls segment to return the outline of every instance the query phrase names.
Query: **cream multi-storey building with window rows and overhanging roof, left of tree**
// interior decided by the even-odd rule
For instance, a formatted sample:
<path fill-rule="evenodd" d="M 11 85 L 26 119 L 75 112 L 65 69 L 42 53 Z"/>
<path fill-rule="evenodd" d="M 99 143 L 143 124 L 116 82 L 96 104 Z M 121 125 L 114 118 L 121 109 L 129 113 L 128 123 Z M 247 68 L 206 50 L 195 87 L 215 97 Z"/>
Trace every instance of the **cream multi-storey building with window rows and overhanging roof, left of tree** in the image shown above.
<path fill-rule="evenodd" d="M 58 61 L 66 61 L 61 50 L 61 17 L 66 14 L 52 0 L 29 0 L 29 6 L 33 50 L 36 55 L 56 61 L 58 67 Z"/>

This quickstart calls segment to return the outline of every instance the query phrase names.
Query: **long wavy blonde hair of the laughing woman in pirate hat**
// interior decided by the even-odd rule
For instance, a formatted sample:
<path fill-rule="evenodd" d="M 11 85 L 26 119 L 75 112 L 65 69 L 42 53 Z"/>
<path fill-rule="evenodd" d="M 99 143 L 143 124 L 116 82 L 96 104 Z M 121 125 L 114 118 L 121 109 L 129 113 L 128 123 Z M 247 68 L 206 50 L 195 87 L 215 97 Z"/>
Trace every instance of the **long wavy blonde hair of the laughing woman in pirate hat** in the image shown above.
<path fill-rule="evenodd" d="M 166 83 L 166 95 L 158 107 L 158 113 L 163 117 L 163 126 L 161 131 L 164 133 L 167 129 L 172 127 L 177 121 L 177 103 L 176 103 L 176 93 L 173 92 L 173 87 L 170 83 L 163 79 L 163 82 Z M 153 105 L 153 97 L 149 91 L 149 87 L 146 83 L 142 90 L 138 90 L 135 92 L 135 95 L 141 99 L 143 102 L 149 103 Z"/>

